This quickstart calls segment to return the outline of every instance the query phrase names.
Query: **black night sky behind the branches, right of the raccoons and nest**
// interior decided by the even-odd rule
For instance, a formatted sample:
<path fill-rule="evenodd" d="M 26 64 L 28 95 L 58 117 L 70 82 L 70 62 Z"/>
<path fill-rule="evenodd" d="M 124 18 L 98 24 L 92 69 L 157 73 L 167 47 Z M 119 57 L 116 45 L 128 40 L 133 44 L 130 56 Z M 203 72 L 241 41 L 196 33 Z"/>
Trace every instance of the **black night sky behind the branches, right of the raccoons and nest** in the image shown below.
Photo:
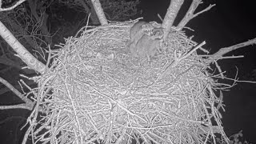
<path fill-rule="evenodd" d="M 188 8 L 189 0 L 185 0 L 185 6 L 178 14 L 182 18 Z M 166 14 L 170 0 L 142 0 L 140 7 L 143 10 L 143 18 L 146 21 L 159 21 L 157 14 L 162 18 Z M 239 42 L 246 42 L 256 38 L 256 10 L 253 1 L 219 0 L 204 1 L 198 8 L 202 10 L 209 4 L 216 4 L 211 10 L 192 19 L 187 26 L 194 32 L 186 31 L 187 35 L 194 35 L 194 41 L 201 43 L 206 41 L 204 48 L 213 54 L 222 47 L 232 46 Z M 176 22 L 177 23 L 177 22 Z M 174 23 L 175 24 L 175 23 Z M 226 70 L 226 76 L 234 78 L 236 66 L 238 67 L 239 80 L 250 80 L 252 70 L 256 70 L 256 46 L 246 46 L 226 55 L 244 55 L 244 58 L 219 61 L 222 70 Z M 247 77 L 246 77 L 247 76 Z M 231 83 L 231 82 L 229 82 Z M 226 112 L 223 114 L 223 126 L 226 134 L 238 133 L 243 130 L 244 138 L 256 143 L 256 84 L 239 82 L 224 93 Z"/>

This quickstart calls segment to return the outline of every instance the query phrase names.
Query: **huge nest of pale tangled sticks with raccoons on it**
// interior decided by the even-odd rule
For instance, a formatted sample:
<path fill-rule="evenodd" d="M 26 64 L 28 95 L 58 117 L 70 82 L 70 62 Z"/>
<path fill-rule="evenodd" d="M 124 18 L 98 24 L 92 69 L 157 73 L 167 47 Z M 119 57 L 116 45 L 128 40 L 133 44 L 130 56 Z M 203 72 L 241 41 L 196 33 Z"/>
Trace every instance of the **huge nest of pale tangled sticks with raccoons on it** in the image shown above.
<path fill-rule="evenodd" d="M 128 49 L 134 21 L 84 27 L 67 38 L 38 85 L 38 142 L 227 142 L 221 93 L 198 44 L 171 30 L 154 58 Z M 89 29 L 90 28 L 90 29 Z M 200 47 L 200 49 L 202 49 Z M 203 49 L 202 49 L 203 50 Z M 221 139 L 214 138 L 220 134 Z M 47 137 L 47 138 L 46 138 Z"/>

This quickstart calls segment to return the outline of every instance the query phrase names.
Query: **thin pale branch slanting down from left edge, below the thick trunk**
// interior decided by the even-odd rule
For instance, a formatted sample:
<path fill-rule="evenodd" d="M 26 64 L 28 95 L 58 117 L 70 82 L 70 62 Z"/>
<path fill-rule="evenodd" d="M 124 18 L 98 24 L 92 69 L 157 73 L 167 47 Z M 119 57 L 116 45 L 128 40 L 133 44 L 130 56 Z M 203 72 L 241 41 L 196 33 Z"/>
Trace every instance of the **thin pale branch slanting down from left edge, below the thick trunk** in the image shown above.
<path fill-rule="evenodd" d="M 12 86 L 9 82 L 7 82 L 5 79 L 0 77 L 0 82 L 4 84 L 6 87 L 8 87 L 14 94 L 18 96 L 18 98 L 21 98 L 22 101 L 26 102 L 26 106 L 33 108 L 34 102 L 32 102 L 29 98 L 26 98 L 22 93 L 20 93 L 17 89 L 15 89 L 14 86 Z"/>

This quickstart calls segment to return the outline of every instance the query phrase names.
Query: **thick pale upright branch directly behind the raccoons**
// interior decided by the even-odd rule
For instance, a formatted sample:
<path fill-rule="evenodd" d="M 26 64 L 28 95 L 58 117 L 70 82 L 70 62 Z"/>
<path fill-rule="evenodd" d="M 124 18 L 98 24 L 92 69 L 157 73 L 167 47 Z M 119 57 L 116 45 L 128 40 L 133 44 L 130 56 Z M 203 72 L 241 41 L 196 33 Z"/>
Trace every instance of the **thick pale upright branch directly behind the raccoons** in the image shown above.
<path fill-rule="evenodd" d="M 164 28 L 164 39 L 167 38 L 171 26 L 174 24 L 174 19 L 177 17 L 178 10 L 182 7 L 184 0 L 172 0 L 167 9 L 166 16 L 163 19 L 162 27 Z"/>

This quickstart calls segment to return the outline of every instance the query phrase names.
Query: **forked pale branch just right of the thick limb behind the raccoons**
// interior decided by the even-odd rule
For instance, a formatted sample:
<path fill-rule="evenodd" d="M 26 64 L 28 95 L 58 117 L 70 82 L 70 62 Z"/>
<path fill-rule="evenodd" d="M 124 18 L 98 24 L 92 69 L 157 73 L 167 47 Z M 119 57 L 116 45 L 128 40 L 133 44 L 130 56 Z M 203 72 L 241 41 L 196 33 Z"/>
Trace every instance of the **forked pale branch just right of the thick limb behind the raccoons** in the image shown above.
<path fill-rule="evenodd" d="M 202 4 L 202 0 L 193 0 L 193 2 L 190 5 L 190 9 L 186 12 L 186 15 L 184 18 L 182 18 L 182 21 L 179 22 L 177 26 L 177 30 L 182 30 L 184 26 L 186 26 L 187 22 L 190 22 L 192 18 L 197 17 L 199 14 L 202 14 L 203 12 L 206 12 L 207 10 L 210 10 L 214 5 L 208 6 L 206 9 L 199 11 L 197 14 L 194 14 L 194 11 L 198 8 L 198 6 Z"/>

